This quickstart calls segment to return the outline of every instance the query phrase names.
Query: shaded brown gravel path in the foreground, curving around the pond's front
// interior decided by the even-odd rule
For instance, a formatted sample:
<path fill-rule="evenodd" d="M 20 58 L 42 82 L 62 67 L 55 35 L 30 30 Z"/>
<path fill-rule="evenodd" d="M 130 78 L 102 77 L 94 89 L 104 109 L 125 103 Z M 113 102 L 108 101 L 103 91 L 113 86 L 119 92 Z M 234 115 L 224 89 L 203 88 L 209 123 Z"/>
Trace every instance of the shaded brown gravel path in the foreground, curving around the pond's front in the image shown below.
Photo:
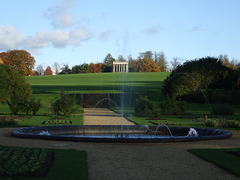
<path fill-rule="evenodd" d="M 102 116 L 102 119 L 104 117 Z M 240 131 L 233 137 L 179 143 L 90 143 L 36 140 L 11 136 L 0 129 L 0 145 L 85 150 L 90 180 L 235 180 L 236 176 L 187 152 L 194 148 L 239 148 Z"/>

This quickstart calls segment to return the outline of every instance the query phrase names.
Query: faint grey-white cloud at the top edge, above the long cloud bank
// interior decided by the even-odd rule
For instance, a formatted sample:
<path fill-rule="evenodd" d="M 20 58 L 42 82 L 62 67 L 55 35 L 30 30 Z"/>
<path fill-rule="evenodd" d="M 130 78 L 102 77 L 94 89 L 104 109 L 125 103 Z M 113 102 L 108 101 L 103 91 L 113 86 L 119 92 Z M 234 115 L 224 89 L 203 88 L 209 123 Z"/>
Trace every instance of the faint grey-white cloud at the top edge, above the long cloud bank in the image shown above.
<path fill-rule="evenodd" d="M 54 28 L 68 28 L 73 25 L 74 18 L 68 12 L 70 9 L 74 8 L 76 0 L 64 0 L 58 3 L 55 7 L 48 8 L 44 13 Z"/>

